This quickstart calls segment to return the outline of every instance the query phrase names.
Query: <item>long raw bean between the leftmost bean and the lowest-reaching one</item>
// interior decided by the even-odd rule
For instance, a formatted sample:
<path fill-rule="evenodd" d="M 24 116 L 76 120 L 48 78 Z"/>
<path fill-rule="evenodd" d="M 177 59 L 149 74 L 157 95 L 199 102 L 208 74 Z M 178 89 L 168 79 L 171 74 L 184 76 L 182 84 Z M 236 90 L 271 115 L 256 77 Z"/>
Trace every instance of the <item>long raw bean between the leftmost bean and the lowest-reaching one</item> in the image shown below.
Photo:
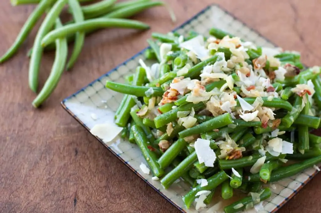
<path fill-rule="evenodd" d="M 60 12 L 62 11 L 66 3 L 67 0 L 56 1 L 54 6 L 48 12 L 46 18 L 43 20 L 36 35 L 29 64 L 29 86 L 33 92 L 37 92 L 38 89 L 38 74 L 41 56 L 43 52 L 43 48 L 41 46 L 41 39 L 50 31 L 52 26 L 55 24 L 56 18 L 58 18 Z M 55 40 L 56 39 L 54 39 L 53 41 Z"/>

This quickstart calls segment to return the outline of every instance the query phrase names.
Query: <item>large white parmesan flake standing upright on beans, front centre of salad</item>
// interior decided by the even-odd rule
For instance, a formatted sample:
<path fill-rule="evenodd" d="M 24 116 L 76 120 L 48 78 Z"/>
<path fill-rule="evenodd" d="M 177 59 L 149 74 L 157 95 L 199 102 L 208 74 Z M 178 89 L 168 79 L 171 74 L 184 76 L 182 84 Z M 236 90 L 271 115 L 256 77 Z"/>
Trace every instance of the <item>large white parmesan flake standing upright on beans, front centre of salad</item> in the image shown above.
<path fill-rule="evenodd" d="M 198 162 L 204 163 L 207 167 L 214 167 L 216 155 L 210 147 L 210 141 L 198 138 L 194 144 L 194 147 Z"/>

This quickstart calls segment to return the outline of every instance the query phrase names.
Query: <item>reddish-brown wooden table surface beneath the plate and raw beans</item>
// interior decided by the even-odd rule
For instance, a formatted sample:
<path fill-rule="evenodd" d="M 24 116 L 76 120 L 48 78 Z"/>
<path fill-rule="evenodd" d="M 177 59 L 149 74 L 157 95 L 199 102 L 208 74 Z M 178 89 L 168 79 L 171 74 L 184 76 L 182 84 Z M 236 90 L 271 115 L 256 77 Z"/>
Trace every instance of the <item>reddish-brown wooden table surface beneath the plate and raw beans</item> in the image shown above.
<path fill-rule="evenodd" d="M 31 106 L 35 94 L 28 88 L 26 57 L 36 31 L 12 60 L 0 65 L 0 212 L 178 212 L 60 106 L 63 98 L 147 46 L 152 31 L 167 32 L 213 1 L 168 2 L 178 18 L 175 24 L 164 8 L 154 8 L 136 17 L 152 26 L 147 32 L 113 29 L 86 38 L 74 69 L 64 73 L 41 109 Z M 277 45 L 300 51 L 305 64 L 320 65 L 319 1 L 214 2 Z M 5 0 L 0 8 L 2 54 L 33 6 L 12 7 Z M 43 57 L 40 86 L 53 57 Z M 317 175 L 279 212 L 320 212 L 320 179 Z"/>

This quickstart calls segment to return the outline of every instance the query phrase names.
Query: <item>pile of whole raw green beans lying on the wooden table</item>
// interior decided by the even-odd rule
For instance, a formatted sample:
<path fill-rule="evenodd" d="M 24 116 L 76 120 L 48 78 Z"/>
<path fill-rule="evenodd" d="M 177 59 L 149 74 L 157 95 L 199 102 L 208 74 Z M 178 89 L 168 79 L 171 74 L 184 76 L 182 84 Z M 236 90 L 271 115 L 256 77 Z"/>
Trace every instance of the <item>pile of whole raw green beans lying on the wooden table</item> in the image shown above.
<path fill-rule="evenodd" d="M 85 36 L 102 28 L 130 28 L 138 30 L 149 29 L 149 26 L 140 21 L 128 20 L 129 17 L 146 9 L 164 6 L 162 1 L 152 0 L 101 0 L 100 2 L 81 5 L 92 0 L 11 0 L 13 6 L 23 4 L 37 4 L 34 11 L 23 25 L 13 45 L 0 58 L 0 63 L 9 60 L 27 39 L 40 17 L 46 14 L 34 40 L 33 47 L 28 52 L 30 57 L 29 87 L 37 93 L 39 84 L 40 62 L 44 51 L 55 50 L 56 58 L 50 75 L 32 102 L 34 107 L 39 107 L 54 91 L 64 70 L 71 69 L 77 61 Z M 63 8 L 69 7 L 72 20 L 63 25 L 55 24 Z M 172 15 L 172 14 L 171 14 Z M 54 25 L 56 26 L 55 28 Z M 74 42 L 73 51 L 68 60 L 65 44 Z M 59 44 L 59 45 L 58 45 Z M 155 53 L 154 53 L 155 54 Z M 58 64 L 59 63 L 59 64 Z"/>

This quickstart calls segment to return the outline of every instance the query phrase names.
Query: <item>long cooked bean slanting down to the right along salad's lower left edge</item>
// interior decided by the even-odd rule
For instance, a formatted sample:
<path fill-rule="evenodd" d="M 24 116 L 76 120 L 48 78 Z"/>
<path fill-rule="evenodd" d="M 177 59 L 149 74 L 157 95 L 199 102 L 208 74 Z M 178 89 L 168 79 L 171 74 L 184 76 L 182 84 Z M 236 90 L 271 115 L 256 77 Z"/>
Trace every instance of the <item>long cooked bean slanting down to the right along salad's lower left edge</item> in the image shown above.
<path fill-rule="evenodd" d="M 156 156 L 155 152 L 152 152 L 148 148 L 149 141 L 148 141 L 148 138 L 145 135 L 142 127 L 134 125 L 131 129 L 133 131 L 135 141 L 136 141 L 138 147 L 142 151 L 142 154 L 143 154 L 146 162 L 148 163 L 148 165 L 152 169 L 152 173 L 157 177 L 162 176 L 164 174 L 164 170 L 159 167 L 159 165 L 157 163 L 157 156 Z"/>

